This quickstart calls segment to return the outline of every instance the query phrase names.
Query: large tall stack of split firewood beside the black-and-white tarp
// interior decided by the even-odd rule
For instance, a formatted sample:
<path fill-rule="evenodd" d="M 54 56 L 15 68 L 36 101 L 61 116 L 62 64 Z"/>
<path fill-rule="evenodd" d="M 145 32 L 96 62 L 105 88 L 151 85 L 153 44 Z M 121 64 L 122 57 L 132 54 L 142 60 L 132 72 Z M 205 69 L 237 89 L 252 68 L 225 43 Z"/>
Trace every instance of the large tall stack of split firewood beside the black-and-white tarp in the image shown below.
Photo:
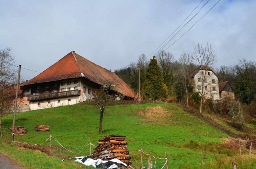
<path fill-rule="evenodd" d="M 131 157 L 127 149 L 127 142 L 125 136 L 105 136 L 103 139 L 98 140 L 98 147 L 93 153 L 94 159 L 111 160 L 119 159 L 127 165 L 131 164 Z"/>

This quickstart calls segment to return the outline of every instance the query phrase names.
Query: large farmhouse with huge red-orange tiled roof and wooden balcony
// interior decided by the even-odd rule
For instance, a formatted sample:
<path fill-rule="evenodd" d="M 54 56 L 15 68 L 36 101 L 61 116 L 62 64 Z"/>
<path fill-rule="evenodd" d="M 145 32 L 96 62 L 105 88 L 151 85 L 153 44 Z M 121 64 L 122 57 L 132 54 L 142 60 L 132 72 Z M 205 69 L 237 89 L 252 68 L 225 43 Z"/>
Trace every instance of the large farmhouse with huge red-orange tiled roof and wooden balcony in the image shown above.
<path fill-rule="evenodd" d="M 74 51 L 48 69 L 20 85 L 30 110 L 76 104 L 93 99 L 104 81 L 116 84 L 117 99 L 135 97 L 132 89 L 115 73 L 92 63 Z"/>

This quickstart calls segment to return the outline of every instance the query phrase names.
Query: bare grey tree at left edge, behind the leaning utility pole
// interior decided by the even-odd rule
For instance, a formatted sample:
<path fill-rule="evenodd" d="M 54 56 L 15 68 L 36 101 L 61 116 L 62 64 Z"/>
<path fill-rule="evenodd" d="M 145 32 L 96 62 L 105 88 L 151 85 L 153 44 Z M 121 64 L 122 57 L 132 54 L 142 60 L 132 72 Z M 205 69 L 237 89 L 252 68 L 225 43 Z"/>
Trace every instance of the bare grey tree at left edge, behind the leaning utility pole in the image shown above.
<path fill-rule="evenodd" d="M 0 80 L 14 84 L 17 79 L 17 70 L 12 48 L 0 49 Z"/>

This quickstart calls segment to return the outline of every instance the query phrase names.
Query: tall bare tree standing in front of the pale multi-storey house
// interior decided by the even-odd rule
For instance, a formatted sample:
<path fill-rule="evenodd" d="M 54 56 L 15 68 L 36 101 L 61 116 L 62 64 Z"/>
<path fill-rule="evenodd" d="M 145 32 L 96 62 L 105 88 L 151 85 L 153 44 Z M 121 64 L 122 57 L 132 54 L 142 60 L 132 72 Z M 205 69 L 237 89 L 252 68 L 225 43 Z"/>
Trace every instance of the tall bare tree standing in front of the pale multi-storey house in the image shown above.
<path fill-rule="evenodd" d="M 207 85 L 205 85 L 207 77 L 208 77 L 208 71 L 211 71 L 211 67 L 216 63 L 217 57 L 214 53 L 214 50 L 212 49 L 210 44 L 206 44 L 206 46 L 202 46 L 199 43 L 194 45 L 194 53 L 193 53 L 193 60 L 196 62 L 196 64 L 200 65 L 200 70 L 203 73 L 199 73 L 200 75 L 200 82 L 202 83 L 202 89 L 199 90 L 201 94 L 201 100 L 200 100 L 200 110 L 199 113 L 202 113 L 202 104 L 205 98 L 205 95 L 208 94 L 208 92 L 205 92 L 205 88 Z M 209 85 L 209 84 L 208 84 Z M 206 87 L 205 87 L 206 86 Z M 211 92 L 211 90 L 210 90 Z"/>

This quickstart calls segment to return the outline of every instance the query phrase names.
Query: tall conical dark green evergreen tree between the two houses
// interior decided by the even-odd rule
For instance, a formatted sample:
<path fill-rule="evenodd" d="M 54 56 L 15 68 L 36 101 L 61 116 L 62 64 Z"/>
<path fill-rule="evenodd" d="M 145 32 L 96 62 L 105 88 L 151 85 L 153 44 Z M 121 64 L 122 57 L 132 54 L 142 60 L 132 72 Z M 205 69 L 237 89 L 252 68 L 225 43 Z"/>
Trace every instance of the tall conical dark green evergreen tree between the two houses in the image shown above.
<path fill-rule="evenodd" d="M 164 85 L 164 79 L 155 56 L 153 59 L 150 59 L 150 64 L 146 71 L 144 92 L 145 95 L 152 100 L 166 98 L 168 95 L 168 90 L 166 85 Z"/>

